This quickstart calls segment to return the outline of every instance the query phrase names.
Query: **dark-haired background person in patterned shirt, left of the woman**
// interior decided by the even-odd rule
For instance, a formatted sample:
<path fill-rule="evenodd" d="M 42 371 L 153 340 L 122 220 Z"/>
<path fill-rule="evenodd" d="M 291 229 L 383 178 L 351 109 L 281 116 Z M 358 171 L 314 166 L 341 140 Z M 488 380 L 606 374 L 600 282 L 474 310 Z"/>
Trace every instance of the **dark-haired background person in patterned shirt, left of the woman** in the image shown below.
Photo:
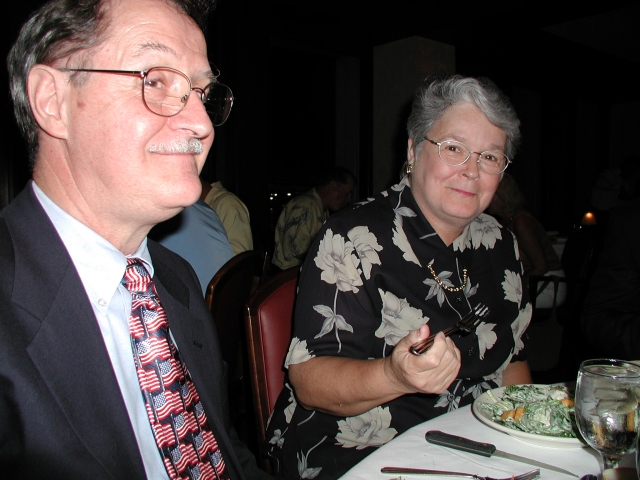
<path fill-rule="evenodd" d="M 349 170 L 336 166 L 315 188 L 292 198 L 278 217 L 271 262 L 281 270 L 300 265 L 329 211 L 337 212 L 351 202 L 355 184 Z"/>

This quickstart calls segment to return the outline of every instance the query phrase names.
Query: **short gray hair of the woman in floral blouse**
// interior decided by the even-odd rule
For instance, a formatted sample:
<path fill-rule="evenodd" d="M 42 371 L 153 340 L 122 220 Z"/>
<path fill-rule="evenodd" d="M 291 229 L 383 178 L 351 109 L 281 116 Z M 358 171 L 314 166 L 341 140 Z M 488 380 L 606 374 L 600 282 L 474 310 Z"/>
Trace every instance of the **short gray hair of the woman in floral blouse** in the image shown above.
<path fill-rule="evenodd" d="M 427 77 L 413 97 L 407 132 L 416 156 L 424 137 L 444 112 L 459 102 L 476 105 L 487 119 L 507 135 L 506 155 L 512 159 L 520 144 L 520 120 L 509 98 L 488 78 L 460 75 Z"/>

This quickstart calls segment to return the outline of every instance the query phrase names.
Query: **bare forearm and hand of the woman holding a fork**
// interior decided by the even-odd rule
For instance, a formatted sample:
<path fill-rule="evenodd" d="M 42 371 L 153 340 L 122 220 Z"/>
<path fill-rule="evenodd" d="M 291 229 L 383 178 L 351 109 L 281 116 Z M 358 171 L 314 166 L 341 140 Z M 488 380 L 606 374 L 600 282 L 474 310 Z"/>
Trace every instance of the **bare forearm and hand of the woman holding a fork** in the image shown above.
<path fill-rule="evenodd" d="M 338 416 L 354 416 L 409 393 L 442 393 L 460 370 L 460 352 L 450 338 L 436 336 L 427 353 L 409 346 L 429 335 L 423 325 L 400 340 L 390 357 L 359 360 L 314 357 L 289 366 L 298 402 Z"/>

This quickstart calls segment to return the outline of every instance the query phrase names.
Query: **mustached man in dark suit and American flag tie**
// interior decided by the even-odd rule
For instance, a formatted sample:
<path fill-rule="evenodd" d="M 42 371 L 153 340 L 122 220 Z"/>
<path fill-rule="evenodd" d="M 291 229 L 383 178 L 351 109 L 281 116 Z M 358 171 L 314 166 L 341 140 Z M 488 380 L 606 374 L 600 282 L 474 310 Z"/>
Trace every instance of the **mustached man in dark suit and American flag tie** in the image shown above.
<path fill-rule="evenodd" d="M 231 106 L 204 18 L 193 0 L 52 0 L 10 53 L 33 181 L 0 214 L 7 477 L 268 478 L 230 427 L 193 269 L 146 239 L 198 199 Z"/>

